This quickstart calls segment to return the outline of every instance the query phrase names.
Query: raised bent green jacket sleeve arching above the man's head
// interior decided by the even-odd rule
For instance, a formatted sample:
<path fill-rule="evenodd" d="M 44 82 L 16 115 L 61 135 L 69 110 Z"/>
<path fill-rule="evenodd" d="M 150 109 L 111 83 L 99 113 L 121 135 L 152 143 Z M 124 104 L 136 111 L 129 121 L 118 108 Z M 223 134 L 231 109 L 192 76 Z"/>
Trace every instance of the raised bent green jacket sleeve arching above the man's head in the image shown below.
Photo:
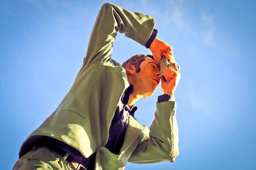
<path fill-rule="evenodd" d="M 101 7 L 90 35 L 84 64 L 108 62 L 118 31 L 125 33 L 125 36 L 139 44 L 145 45 L 150 39 L 154 26 L 155 19 L 151 16 L 131 12 L 111 3 L 105 3 Z"/>

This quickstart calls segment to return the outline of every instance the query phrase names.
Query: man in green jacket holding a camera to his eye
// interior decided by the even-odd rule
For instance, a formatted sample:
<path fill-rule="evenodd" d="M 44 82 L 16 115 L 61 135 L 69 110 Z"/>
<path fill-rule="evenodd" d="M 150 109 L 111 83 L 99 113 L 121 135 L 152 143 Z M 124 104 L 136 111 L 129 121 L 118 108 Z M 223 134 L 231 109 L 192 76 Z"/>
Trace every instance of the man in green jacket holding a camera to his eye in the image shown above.
<path fill-rule="evenodd" d="M 126 163 L 174 162 L 179 154 L 174 92 L 180 74 L 164 70 L 171 46 L 156 38 L 155 19 L 106 3 L 71 90 L 59 107 L 23 142 L 14 169 L 123 169 Z M 110 58 L 117 32 L 145 45 L 123 67 Z M 155 120 L 140 125 L 136 101 L 151 96 L 162 80 Z M 145 113 L 145 115 L 148 113 Z"/>

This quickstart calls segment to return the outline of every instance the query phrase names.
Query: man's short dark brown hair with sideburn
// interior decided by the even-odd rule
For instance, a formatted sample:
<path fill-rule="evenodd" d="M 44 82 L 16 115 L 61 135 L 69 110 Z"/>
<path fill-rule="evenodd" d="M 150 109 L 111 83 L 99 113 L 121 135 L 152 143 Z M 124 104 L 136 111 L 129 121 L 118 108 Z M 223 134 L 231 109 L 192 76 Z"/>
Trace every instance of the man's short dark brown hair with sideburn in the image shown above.
<path fill-rule="evenodd" d="M 146 59 L 146 57 L 150 57 L 152 59 L 154 59 L 154 57 L 152 55 L 143 55 L 143 54 L 136 54 L 135 56 L 127 59 L 125 62 L 123 62 L 122 67 L 126 69 L 126 67 L 128 65 L 134 65 L 135 69 L 136 69 L 136 73 L 139 73 L 139 71 L 141 71 L 141 67 L 139 67 L 141 65 L 141 63 Z"/>

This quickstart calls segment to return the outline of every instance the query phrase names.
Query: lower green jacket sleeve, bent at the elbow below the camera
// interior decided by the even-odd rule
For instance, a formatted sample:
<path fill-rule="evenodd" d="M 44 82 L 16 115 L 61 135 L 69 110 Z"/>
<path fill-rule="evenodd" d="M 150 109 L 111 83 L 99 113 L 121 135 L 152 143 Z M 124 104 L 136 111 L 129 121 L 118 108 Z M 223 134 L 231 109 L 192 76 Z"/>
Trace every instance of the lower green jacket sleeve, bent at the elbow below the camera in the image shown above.
<path fill-rule="evenodd" d="M 176 102 L 156 103 L 155 119 L 129 158 L 131 163 L 174 162 L 179 155 Z"/>

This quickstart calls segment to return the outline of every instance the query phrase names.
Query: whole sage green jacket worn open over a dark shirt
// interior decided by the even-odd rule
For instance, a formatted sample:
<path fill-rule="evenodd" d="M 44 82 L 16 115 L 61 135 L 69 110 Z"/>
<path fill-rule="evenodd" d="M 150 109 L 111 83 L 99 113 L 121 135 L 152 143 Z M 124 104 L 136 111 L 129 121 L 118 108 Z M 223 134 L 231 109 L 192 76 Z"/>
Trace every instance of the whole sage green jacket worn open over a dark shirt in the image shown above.
<path fill-rule="evenodd" d="M 125 141 L 115 155 L 106 147 L 115 109 L 129 86 L 126 71 L 110 58 L 117 32 L 145 45 L 155 19 L 106 3 L 102 6 L 83 65 L 56 110 L 23 142 L 20 156 L 43 136 L 76 148 L 86 158 L 97 152 L 95 169 L 123 169 L 126 163 L 174 162 L 179 154 L 176 103 L 156 103 L 150 126 L 129 117 Z M 152 114 L 152 113 L 144 113 Z"/>

